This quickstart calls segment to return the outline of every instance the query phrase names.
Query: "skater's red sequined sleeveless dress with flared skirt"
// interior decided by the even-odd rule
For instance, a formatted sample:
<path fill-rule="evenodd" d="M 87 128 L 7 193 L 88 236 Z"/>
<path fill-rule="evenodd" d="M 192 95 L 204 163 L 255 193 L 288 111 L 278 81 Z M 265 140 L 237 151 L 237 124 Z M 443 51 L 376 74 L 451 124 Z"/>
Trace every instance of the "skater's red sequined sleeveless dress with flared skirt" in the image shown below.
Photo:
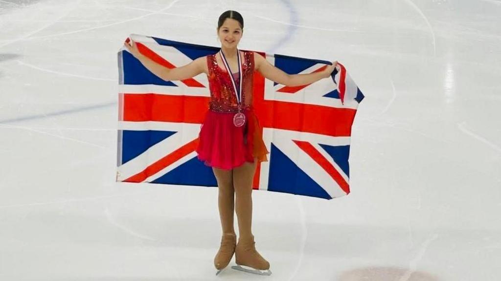
<path fill-rule="evenodd" d="M 224 68 L 219 66 L 216 54 L 207 56 L 208 80 L 210 89 L 209 110 L 200 129 L 196 149 L 198 159 L 208 166 L 231 169 L 245 161 L 267 161 L 269 153 L 263 141 L 262 129 L 252 106 L 254 53 L 240 52 L 242 65 L 242 109 L 245 124 L 237 127 L 233 116 L 238 112 L 238 103 L 231 83 L 231 78 Z M 239 84 L 238 72 L 233 73 Z"/>

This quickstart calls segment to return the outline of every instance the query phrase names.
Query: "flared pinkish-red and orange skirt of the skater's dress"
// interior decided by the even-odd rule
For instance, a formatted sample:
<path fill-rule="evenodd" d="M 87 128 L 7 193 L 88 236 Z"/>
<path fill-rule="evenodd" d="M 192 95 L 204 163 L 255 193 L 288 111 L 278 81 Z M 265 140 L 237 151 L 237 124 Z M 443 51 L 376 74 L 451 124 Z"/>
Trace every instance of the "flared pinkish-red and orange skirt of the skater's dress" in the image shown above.
<path fill-rule="evenodd" d="M 254 110 L 245 110 L 245 124 L 233 124 L 234 112 L 208 110 L 198 135 L 196 152 L 205 165 L 232 169 L 244 162 L 268 161 L 263 132 Z"/>

